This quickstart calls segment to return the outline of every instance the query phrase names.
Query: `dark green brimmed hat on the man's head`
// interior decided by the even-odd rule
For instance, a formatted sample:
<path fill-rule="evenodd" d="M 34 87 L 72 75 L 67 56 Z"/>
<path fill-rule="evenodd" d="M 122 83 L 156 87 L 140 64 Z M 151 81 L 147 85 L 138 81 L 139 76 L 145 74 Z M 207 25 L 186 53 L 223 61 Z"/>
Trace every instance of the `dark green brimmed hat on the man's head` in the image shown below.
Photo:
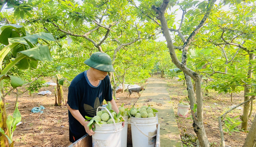
<path fill-rule="evenodd" d="M 94 69 L 104 72 L 114 72 L 111 58 L 104 52 L 94 52 L 84 63 Z"/>

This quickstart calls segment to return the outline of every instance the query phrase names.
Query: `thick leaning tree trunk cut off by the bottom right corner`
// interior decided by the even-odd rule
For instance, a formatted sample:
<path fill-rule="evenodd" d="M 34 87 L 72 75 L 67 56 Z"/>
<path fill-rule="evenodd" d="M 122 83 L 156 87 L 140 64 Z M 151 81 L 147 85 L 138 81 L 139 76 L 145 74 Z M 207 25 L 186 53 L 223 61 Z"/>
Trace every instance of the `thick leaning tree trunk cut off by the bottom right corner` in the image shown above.
<path fill-rule="evenodd" d="M 245 138 L 243 147 L 254 147 L 255 144 L 256 144 L 256 114 L 254 116 L 253 124 L 250 128 L 250 131 Z"/>

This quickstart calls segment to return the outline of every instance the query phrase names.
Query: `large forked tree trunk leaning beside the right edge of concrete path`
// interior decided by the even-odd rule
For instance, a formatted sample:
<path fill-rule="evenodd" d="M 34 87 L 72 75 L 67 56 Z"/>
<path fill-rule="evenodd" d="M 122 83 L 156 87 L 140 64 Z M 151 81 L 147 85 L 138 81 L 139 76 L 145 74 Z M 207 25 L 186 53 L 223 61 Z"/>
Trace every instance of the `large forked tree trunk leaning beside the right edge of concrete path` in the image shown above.
<path fill-rule="evenodd" d="M 151 7 L 158 14 L 157 19 L 159 19 L 160 22 L 161 22 L 161 28 L 162 28 L 162 31 L 163 31 L 163 35 L 166 38 L 167 48 L 169 49 L 172 62 L 180 70 L 182 70 L 183 73 L 186 73 L 191 78 L 193 78 L 194 81 L 195 81 L 197 116 L 194 117 L 193 127 L 194 127 L 194 131 L 195 131 L 196 135 L 198 136 L 198 140 L 199 140 L 199 143 L 200 143 L 201 147 L 210 147 L 210 142 L 209 142 L 209 140 L 206 136 L 204 125 L 203 125 L 203 98 L 202 98 L 202 89 L 201 89 L 201 77 L 198 73 L 189 69 L 185 65 L 185 63 L 186 63 L 188 48 L 189 48 L 193 38 L 195 37 L 195 35 L 197 33 L 199 33 L 199 31 L 203 27 L 206 19 L 210 15 L 210 12 L 212 10 L 212 7 L 213 7 L 215 1 L 216 0 L 210 0 L 209 1 L 209 5 L 208 5 L 209 7 L 207 6 L 206 13 L 204 14 L 204 17 L 202 18 L 201 22 L 199 23 L 198 26 L 196 26 L 194 31 L 190 34 L 189 38 L 184 42 L 184 45 L 183 45 L 183 48 L 182 48 L 182 62 L 180 62 L 178 60 L 177 56 L 176 56 L 174 46 L 173 46 L 173 43 L 172 43 L 172 39 L 171 39 L 171 36 L 170 36 L 170 32 L 169 32 L 169 27 L 168 27 L 168 24 L 167 24 L 167 21 L 166 21 L 166 17 L 164 15 L 170 0 L 163 0 L 160 7 L 155 7 L 154 5 Z"/>

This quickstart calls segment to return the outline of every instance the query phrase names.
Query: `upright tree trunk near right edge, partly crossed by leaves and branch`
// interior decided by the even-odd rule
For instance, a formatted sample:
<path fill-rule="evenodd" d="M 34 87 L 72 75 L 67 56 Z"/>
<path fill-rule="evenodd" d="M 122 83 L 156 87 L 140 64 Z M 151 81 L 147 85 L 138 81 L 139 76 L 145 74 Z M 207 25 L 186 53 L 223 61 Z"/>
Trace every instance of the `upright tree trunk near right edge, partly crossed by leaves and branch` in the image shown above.
<path fill-rule="evenodd" d="M 252 78 L 253 65 L 250 62 L 252 60 L 254 60 L 254 54 L 249 53 L 249 64 L 250 64 L 250 66 L 248 67 L 247 78 Z M 249 96 L 246 96 L 249 92 L 250 92 L 249 87 L 247 85 L 244 85 L 244 101 L 249 99 Z M 241 129 L 243 129 L 244 131 L 247 131 L 247 122 L 248 122 L 249 109 L 250 109 L 250 102 L 247 102 L 247 103 L 244 104 L 243 115 L 241 117 L 241 120 L 242 120 Z"/>

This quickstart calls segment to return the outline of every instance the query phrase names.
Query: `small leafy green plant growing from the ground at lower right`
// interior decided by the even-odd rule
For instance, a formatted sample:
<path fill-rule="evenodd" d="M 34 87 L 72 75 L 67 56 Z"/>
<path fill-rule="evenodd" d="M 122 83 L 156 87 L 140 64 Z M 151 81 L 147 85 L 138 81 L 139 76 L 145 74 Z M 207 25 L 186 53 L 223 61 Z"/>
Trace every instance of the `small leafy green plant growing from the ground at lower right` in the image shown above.
<path fill-rule="evenodd" d="M 225 117 L 226 120 L 224 120 L 225 124 L 223 131 L 227 132 L 230 135 L 232 135 L 232 132 L 239 132 L 237 126 L 240 125 L 242 121 L 237 120 L 238 117 L 239 115 L 234 117 L 233 119 L 230 117 Z"/>

